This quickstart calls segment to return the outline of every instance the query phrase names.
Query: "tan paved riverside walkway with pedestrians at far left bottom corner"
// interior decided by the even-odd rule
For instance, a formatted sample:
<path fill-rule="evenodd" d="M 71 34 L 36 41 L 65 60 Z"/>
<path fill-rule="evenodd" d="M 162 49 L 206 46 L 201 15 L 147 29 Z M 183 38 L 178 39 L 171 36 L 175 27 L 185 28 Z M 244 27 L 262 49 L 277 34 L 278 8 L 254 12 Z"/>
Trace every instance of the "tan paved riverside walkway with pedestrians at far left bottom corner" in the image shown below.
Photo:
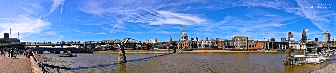
<path fill-rule="evenodd" d="M 7 54 L 7 53 L 6 53 Z M 16 56 L 16 59 L 0 57 L 0 73 L 31 73 L 30 59 L 26 56 Z"/>

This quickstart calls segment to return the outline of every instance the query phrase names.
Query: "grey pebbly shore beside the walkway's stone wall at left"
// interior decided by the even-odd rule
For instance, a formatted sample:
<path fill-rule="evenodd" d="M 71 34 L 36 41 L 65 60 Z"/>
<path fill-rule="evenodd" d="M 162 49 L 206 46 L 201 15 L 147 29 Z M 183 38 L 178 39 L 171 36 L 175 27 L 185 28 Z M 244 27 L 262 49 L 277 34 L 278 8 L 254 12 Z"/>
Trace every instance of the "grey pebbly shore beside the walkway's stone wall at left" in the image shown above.
<path fill-rule="evenodd" d="M 58 58 L 45 57 L 43 54 L 35 54 L 37 60 L 49 69 L 52 73 L 78 73 L 76 71 L 70 70 L 69 66 L 76 63 L 69 60 L 62 60 Z M 44 60 L 48 60 L 48 62 L 44 62 Z M 56 68 L 59 68 L 59 72 L 56 72 Z"/>

